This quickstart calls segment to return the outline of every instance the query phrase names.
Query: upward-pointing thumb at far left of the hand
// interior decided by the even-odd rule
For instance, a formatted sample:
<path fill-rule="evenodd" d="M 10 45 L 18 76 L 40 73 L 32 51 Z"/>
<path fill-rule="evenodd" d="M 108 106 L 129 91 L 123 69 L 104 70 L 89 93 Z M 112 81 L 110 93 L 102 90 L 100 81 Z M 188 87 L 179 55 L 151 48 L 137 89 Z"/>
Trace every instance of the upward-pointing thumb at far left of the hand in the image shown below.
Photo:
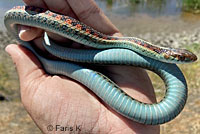
<path fill-rule="evenodd" d="M 16 65 L 20 83 L 28 83 L 44 75 L 40 62 L 24 47 L 11 44 L 6 47 L 6 52 Z"/>

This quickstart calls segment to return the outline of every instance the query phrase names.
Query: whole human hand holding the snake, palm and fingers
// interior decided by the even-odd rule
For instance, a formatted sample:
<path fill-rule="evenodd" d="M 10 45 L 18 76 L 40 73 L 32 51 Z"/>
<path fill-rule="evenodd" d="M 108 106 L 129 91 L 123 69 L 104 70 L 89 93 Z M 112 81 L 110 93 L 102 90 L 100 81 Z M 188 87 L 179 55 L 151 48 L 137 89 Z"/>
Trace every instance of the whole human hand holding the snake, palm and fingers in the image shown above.
<path fill-rule="evenodd" d="M 27 5 L 48 8 L 74 17 L 105 34 L 121 36 L 93 0 L 55 2 L 24 0 L 24 2 Z M 26 41 L 34 39 L 35 44 L 40 47 L 42 33 L 40 29 L 21 27 L 20 37 Z M 73 47 L 80 46 L 52 33 L 49 33 L 49 36 L 60 42 L 70 42 Z M 6 47 L 6 51 L 17 67 L 22 103 L 43 133 L 49 133 L 48 125 L 80 125 L 81 131 L 76 133 L 158 134 L 160 132 L 159 126 L 142 125 L 122 117 L 78 82 L 64 76 L 46 74 L 36 57 L 22 46 L 11 44 Z M 127 66 L 109 66 L 100 69 L 106 71 L 106 75 L 132 97 L 142 102 L 156 102 L 151 81 L 144 70 Z M 53 132 L 62 133 L 55 130 Z"/>

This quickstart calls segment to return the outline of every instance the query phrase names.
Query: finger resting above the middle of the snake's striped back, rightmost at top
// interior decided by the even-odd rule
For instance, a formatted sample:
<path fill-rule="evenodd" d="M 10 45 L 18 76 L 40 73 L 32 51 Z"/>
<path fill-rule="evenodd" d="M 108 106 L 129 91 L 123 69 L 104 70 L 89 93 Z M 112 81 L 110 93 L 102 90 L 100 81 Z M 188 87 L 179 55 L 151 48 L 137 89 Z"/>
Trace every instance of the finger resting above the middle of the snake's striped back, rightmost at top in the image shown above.
<path fill-rule="evenodd" d="M 80 21 L 105 34 L 119 33 L 94 0 L 67 1 Z"/>

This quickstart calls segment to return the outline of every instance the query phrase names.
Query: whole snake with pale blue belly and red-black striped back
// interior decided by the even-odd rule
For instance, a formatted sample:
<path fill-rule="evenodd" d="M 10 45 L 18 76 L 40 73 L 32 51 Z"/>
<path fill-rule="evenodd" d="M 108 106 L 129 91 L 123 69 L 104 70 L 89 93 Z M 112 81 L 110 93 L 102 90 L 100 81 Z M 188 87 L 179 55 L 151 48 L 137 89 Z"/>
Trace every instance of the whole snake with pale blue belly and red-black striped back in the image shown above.
<path fill-rule="evenodd" d="M 187 82 L 176 64 L 191 63 L 197 56 L 186 49 L 156 46 L 136 37 L 103 34 L 84 23 L 56 12 L 34 7 L 15 6 L 4 15 L 7 30 L 20 45 L 29 49 L 50 75 L 64 75 L 83 84 L 101 100 L 126 118 L 141 124 L 159 125 L 174 119 L 187 101 Z M 37 51 L 33 42 L 19 38 L 19 25 L 44 29 L 46 51 L 57 59 Z M 91 49 L 75 49 L 59 45 L 48 36 L 53 32 Z M 165 83 L 165 96 L 156 103 L 144 103 L 123 91 L 104 73 L 88 67 L 124 65 L 150 70 Z"/>

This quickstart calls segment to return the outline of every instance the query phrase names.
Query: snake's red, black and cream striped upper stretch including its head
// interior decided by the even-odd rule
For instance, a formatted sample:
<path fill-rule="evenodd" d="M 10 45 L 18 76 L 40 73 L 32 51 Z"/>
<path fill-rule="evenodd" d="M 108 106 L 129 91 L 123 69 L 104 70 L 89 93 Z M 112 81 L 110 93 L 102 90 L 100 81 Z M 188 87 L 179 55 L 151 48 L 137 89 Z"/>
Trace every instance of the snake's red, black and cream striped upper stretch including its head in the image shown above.
<path fill-rule="evenodd" d="M 48 27 L 51 32 L 93 48 L 127 48 L 167 63 L 187 63 L 197 60 L 196 55 L 188 50 L 158 47 L 135 37 L 108 36 L 69 16 L 59 15 L 42 8 L 17 6 L 9 12 L 6 14 L 7 17 L 18 16 L 18 18 L 29 20 L 28 23 L 24 21 L 25 25 L 37 24 L 36 27 L 39 28 Z"/>

